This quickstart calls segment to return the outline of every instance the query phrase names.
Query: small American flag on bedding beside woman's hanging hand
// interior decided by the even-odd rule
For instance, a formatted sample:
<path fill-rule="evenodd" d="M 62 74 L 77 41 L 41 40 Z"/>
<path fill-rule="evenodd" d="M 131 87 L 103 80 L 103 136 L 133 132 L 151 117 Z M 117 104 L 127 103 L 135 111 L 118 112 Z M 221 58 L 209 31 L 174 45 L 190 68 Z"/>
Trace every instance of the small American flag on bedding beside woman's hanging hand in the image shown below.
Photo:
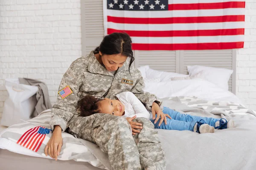
<path fill-rule="evenodd" d="M 37 126 L 31 128 L 20 137 L 17 144 L 37 152 L 43 143 L 46 134 L 49 133 L 50 129 L 45 127 Z"/>

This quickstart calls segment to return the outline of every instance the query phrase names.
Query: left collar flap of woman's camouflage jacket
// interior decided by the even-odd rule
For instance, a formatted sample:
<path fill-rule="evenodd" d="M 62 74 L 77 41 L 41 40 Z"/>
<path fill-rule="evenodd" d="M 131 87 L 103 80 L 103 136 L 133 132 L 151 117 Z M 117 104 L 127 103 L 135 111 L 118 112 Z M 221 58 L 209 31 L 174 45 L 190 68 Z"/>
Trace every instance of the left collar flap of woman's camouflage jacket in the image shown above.
<path fill-rule="evenodd" d="M 89 64 L 88 64 L 88 71 L 90 73 L 95 73 L 95 74 L 104 74 L 107 76 L 113 76 L 111 72 L 109 72 L 106 68 L 104 68 L 99 61 L 96 59 L 94 56 L 93 51 L 90 52 L 89 54 Z"/>

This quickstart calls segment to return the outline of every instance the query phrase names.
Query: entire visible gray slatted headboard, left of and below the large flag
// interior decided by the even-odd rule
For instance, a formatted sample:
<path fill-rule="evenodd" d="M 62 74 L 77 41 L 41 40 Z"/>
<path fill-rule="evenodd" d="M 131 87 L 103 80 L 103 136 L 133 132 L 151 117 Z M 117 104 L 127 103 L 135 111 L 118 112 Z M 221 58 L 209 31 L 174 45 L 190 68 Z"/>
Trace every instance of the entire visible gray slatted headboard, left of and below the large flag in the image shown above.
<path fill-rule="evenodd" d="M 104 36 L 102 0 L 81 0 L 82 55 L 100 44 Z M 229 90 L 236 93 L 236 50 L 134 51 L 135 67 L 150 65 L 161 71 L 187 74 L 187 65 L 233 69 Z"/>

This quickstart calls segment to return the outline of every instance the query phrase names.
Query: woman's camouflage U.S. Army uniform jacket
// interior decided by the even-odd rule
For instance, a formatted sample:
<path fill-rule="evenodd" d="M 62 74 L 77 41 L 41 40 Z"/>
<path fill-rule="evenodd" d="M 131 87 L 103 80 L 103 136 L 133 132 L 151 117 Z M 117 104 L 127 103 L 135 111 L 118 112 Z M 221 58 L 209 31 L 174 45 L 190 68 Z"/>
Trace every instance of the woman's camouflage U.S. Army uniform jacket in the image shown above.
<path fill-rule="evenodd" d="M 129 65 L 125 62 L 113 75 L 98 62 L 93 51 L 76 59 L 67 69 L 59 86 L 59 91 L 69 86 L 73 93 L 66 97 L 58 94 L 57 102 L 52 108 L 51 128 L 60 125 L 63 131 L 70 127 L 74 133 L 78 133 L 78 102 L 86 95 L 116 99 L 116 94 L 131 91 L 143 102 L 148 111 L 151 111 L 154 101 L 161 105 L 160 99 L 155 95 L 143 91 L 145 84 L 140 71 L 131 66 L 130 72 L 131 74 Z M 88 126 L 92 125 L 94 116 L 88 116 L 87 119 Z"/>

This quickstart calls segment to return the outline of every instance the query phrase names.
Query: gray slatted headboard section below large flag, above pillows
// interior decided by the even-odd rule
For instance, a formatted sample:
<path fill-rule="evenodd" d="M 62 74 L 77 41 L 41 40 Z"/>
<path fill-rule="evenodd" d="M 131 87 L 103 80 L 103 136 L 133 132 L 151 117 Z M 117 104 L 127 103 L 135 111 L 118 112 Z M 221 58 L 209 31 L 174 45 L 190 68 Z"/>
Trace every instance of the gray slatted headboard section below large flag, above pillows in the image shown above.
<path fill-rule="evenodd" d="M 149 65 L 150 68 L 188 74 L 186 66 L 204 65 L 228 68 L 233 74 L 228 82 L 229 91 L 236 94 L 236 50 L 201 51 L 134 51 L 135 67 Z"/>

